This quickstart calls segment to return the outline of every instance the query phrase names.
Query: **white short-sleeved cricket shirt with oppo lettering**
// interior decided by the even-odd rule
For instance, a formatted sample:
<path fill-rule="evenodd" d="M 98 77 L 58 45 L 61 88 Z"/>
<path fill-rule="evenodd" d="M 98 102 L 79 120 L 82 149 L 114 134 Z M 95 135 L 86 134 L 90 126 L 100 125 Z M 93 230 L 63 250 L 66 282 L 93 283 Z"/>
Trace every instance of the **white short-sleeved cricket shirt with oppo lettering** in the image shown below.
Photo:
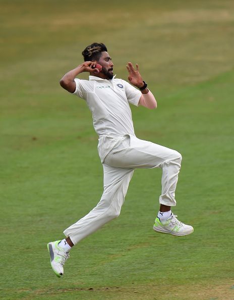
<path fill-rule="evenodd" d="M 98 153 L 101 161 L 124 135 L 134 135 L 129 103 L 138 106 L 142 93 L 123 79 L 89 80 L 75 78 L 74 94 L 83 98 L 93 117 L 93 127 L 99 135 Z"/>

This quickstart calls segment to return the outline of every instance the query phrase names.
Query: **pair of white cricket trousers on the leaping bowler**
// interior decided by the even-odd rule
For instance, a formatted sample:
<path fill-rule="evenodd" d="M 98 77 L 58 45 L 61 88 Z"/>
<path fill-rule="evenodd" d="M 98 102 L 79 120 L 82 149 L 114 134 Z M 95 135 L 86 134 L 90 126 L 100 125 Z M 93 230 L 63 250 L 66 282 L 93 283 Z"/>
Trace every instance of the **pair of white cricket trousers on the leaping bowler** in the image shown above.
<path fill-rule="evenodd" d="M 104 189 L 100 202 L 85 217 L 64 231 L 77 244 L 105 223 L 118 217 L 136 168 L 161 168 L 159 203 L 175 206 L 175 188 L 182 156 L 177 151 L 126 135 L 119 139 L 103 162 Z"/>

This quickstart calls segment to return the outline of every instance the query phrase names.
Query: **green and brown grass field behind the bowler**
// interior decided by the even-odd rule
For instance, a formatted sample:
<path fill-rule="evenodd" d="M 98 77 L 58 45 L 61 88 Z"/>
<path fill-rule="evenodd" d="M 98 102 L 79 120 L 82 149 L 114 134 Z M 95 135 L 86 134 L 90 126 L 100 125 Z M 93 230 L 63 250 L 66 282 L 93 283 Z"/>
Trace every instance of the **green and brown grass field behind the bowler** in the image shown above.
<path fill-rule="evenodd" d="M 0 297 L 233 300 L 233 2 L 0 0 L 0 9 Z M 156 95 L 157 110 L 132 107 L 136 135 L 182 153 L 173 212 L 194 233 L 152 230 L 161 171 L 136 170 L 121 216 L 81 241 L 58 279 L 47 242 L 102 193 L 91 114 L 59 85 L 94 41 L 117 77 L 138 63 Z"/>

